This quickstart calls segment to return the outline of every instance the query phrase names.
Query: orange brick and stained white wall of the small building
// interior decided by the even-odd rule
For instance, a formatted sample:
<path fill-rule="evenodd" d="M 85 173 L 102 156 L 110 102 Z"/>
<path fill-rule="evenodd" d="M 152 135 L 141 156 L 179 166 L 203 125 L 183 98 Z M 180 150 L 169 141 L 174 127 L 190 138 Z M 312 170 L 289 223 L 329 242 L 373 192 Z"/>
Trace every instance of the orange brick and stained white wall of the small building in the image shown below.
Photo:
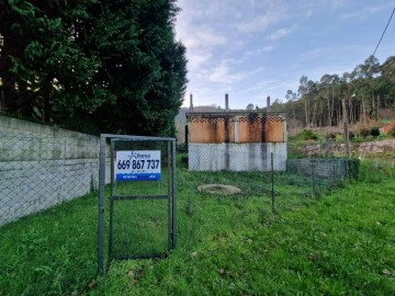
<path fill-rule="evenodd" d="M 285 114 L 190 113 L 189 169 L 194 171 L 285 170 Z"/>

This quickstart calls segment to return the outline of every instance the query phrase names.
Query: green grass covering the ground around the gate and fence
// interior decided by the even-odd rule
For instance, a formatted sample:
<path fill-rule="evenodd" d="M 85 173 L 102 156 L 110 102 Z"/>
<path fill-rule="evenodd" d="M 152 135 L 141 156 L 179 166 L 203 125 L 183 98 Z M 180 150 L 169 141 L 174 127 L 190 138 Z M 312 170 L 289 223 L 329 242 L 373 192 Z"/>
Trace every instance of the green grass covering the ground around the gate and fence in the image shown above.
<path fill-rule="evenodd" d="M 308 180 L 278 173 L 276 213 L 270 175 L 180 168 L 177 249 L 114 261 L 104 278 L 95 274 L 98 196 L 87 195 L 0 228 L 0 295 L 394 295 L 395 172 L 372 168 L 363 162 L 361 182 L 318 202 Z M 196 192 L 207 183 L 244 193 Z M 143 202 L 120 205 L 120 234 L 145 234 L 142 242 L 151 234 L 144 248 L 163 246 L 162 230 L 139 232 L 163 225 L 160 206 Z"/>

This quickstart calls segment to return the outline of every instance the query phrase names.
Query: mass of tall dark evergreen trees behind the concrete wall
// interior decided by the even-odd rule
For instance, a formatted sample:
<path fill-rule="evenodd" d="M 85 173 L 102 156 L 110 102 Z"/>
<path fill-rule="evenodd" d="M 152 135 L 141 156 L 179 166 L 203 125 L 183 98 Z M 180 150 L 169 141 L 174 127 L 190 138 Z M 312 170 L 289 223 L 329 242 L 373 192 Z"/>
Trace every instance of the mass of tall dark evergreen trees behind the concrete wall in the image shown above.
<path fill-rule="evenodd" d="M 0 3 L 1 109 L 90 133 L 173 135 L 187 84 L 174 0 Z"/>

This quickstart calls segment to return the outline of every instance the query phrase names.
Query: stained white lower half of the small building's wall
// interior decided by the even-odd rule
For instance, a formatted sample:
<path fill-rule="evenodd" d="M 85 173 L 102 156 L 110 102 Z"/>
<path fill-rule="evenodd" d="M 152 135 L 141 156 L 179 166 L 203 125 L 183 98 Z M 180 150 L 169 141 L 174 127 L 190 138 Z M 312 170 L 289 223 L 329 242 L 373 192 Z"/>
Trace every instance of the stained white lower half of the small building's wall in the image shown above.
<path fill-rule="evenodd" d="M 188 146 L 192 171 L 284 171 L 286 143 L 193 144 Z"/>

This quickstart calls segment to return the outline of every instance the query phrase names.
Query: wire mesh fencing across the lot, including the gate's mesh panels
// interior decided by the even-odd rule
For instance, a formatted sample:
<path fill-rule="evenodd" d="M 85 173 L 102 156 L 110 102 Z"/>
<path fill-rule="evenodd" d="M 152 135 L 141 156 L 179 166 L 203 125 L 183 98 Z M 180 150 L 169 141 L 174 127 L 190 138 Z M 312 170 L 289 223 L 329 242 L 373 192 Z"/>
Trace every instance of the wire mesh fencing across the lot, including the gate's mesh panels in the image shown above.
<path fill-rule="evenodd" d="M 95 278 L 99 147 L 97 137 L 82 135 L 1 134 L 0 286 L 5 292 L 11 291 L 9 294 L 61 294 L 70 286 L 87 287 Z M 153 147 L 117 147 L 124 148 Z M 158 149 L 167 153 L 166 147 Z M 287 159 L 280 146 L 238 150 L 213 146 L 210 149 L 217 150 L 195 151 L 195 156 L 206 159 L 194 160 L 198 164 L 214 163 L 208 169 L 189 169 L 191 153 L 185 153 L 185 147 L 178 155 L 177 236 L 182 248 L 196 248 L 207 237 L 221 240 L 222 236 L 238 231 L 247 224 L 250 224 L 248 227 L 267 227 L 271 212 L 315 202 L 349 179 L 360 178 L 379 184 L 390 174 L 388 170 L 394 175 L 394 169 L 380 161 L 371 161 L 360 173 L 358 160 Z M 110 155 L 108 149 L 105 171 L 110 171 Z M 162 164 L 165 169 L 165 159 Z M 111 173 L 106 173 L 106 178 L 111 178 Z M 214 186 L 200 190 L 201 185 L 210 184 Z M 166 182 L 144 185 L 120 182 L 114 193 L 116 196 L 165 194 L 168 187 Z M 239 191 L 234 191 L 235 187 Z M 106 209 L 110 191 L 111 187 L 105 186 Z M 76 198 L 81 195 L 84 197 Z M 168 205 L 163 200 L 120 200 L 113 209 L 114 253 L 167 249 Z M 25 215 L 29 217 L 20 219 Z M 215 230 L 212 225 L 217 226 Z M 110 229 L 109 212 L 104 226 Z M 110 258 L 108 252 L 104 255 Z M 42 284 L 32 289 L 15 287 L 9 274 L 25 276 L 23 282 L 27 287 L 33 287 L 33 282 Z"/>

